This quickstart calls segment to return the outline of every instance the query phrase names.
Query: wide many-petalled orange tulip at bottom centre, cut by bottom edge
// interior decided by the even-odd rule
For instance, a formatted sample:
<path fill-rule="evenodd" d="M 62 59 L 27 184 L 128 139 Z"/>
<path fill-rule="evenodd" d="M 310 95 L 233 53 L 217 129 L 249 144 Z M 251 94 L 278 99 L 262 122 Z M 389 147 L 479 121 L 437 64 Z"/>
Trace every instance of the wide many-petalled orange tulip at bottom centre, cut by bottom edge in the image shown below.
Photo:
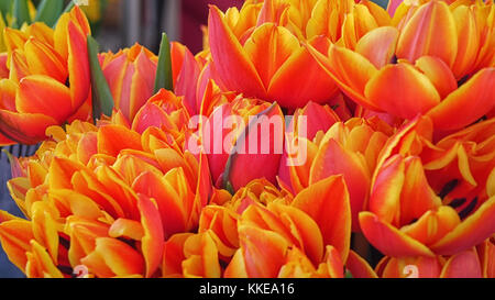
<path fill-rule="evenodd" d="M 250 182 L 222 204 L 206 207 L 198 234 L 172 236 L 165 244 L 165 275 L 342 278 L 345 265 L 356 277 L 376 277 L 349 249 L 349 195 L 341 176 L 294 199 L 270 184 L 262 187 L 263 180 Z"/>

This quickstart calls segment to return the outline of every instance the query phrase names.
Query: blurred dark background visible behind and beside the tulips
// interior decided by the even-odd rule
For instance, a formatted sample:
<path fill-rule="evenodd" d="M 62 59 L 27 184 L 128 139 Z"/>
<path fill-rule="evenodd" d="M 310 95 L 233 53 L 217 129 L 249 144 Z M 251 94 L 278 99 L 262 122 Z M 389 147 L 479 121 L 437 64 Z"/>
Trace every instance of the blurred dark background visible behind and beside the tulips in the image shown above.
<path fill-rule="evenodd" d="M 0 0 L 0 4 L 2 4 Z M 202 48 L 201 26 L 208 23 L 208 4 L 222 11 L 229 7 L 241 8 L 243 0 L 74 0 L 85 10 L 91 22 L 94 36 L 100 51 L 117 52 L 122 47 L 140 43 L 154 53 L 158 52 L 162 32 L 170 41 L 185 44 L 194 54 Z M 386 7 L 388 0 L 373 0 Z M 38 1 L 33 0 L 37 4 Z M 68 2 L 68 0 L 66 1 Z M 14 156 L 30 156 L 35 147 L 14 145 L 7 151 Z M 10 165 L 4 153 L 0 153 L 0 210 L 23 216 L 7 189 Z M 24 277 L 0 248 L 0 278 Z"/>

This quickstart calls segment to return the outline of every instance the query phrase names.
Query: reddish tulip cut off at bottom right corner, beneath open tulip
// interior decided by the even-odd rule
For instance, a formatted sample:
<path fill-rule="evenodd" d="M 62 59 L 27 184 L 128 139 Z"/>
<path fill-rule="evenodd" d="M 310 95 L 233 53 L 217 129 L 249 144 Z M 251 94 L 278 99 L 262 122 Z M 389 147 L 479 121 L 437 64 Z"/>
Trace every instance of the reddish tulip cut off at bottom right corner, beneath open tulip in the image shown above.
<path fill-rule="evenodd" d="M 384 257 L 376 268 L 383 278 L 494 278 L 494 249 L 488 238 L 448 257 Z"/>

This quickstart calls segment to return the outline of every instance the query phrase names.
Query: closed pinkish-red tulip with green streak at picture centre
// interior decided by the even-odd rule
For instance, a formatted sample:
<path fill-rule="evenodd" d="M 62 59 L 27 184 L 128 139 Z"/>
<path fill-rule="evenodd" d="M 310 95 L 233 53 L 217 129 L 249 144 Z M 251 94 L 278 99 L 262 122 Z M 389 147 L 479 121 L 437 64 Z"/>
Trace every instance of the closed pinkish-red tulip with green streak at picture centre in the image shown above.
<path fill-rule="evenodd" d="M 198 131 L 186 142 L 187 148 L 207 153 L 217 187 L 238 190 L 263 177 L 276 181 L 285 127 L 278 105 L 238 97 L 190 125 Z"/>

